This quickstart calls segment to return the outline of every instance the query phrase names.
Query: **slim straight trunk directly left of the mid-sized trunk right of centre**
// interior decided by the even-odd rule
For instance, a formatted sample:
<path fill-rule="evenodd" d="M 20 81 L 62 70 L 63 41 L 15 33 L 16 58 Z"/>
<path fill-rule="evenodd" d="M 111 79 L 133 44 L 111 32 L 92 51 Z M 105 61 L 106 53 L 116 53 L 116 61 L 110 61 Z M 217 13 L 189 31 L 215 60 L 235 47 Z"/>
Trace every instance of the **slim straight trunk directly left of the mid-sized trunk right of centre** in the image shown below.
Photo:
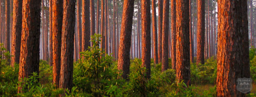
<path fill-rule="evenodd" d="M 163 0 L 158 0 L 158 62 L 162 62 Z"/>

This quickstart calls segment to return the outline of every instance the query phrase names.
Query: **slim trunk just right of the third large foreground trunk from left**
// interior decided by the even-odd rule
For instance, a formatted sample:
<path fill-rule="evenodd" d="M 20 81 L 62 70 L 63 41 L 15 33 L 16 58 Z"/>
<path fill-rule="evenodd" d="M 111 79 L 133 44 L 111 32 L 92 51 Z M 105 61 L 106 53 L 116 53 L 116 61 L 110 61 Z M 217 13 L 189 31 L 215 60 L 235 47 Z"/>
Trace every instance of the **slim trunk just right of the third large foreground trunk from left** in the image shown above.
<path fill-rule="evenodd" d="M 87 0 L 86 0 L 87 1 Z M 83 34 L 82 33 L 84 33 L 83 32 L 83 30 L 82 30 L 82 24 L 81 24 L 81 17 L 82 16 L 84 16 L 83 14 L 82 14 L 82 16 L 81 16 L 81 6 L 83 6 L 84 7 L 84 5 L 82 5 L 82 2 L 85 2 L 85 0 L 77 0 L 77 4 L 76 4 L 76 15 L 77 15 L 77 40 L 78 40 L 78 45 L 77 45 L 77 47 L 78 47 L 78 54 L 79 54 L 79 56 L 78 56 L 78 59 L 80 58 L 80 53 L 79 52 L 82 52 L 82 36 L 83 36 Z M 89 5 L 89 4 L 88 4 Z M 88 13 L 87 13 L 88 14 Z M 83 28 L 84 29 L 84 28 Z"/>

